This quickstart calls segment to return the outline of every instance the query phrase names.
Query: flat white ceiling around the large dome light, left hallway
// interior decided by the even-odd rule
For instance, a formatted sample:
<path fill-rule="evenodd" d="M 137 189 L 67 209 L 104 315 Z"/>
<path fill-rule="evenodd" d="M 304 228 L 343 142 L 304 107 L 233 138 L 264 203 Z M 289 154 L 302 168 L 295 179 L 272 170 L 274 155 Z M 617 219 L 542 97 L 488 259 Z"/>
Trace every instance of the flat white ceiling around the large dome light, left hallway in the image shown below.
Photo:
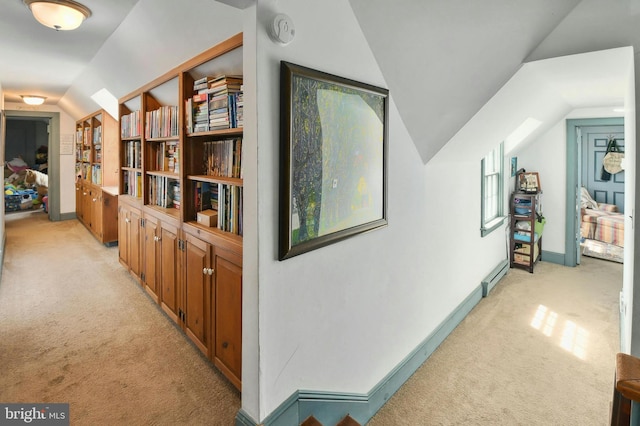
<path fill-rule="evenodd" d="M 55 105 L 138 0 L 81 0 L 92 15 L 77 30 L 38 23 L 22 0 L 0 3 L 0 85 L 5 102 L 46 96 Z"/>

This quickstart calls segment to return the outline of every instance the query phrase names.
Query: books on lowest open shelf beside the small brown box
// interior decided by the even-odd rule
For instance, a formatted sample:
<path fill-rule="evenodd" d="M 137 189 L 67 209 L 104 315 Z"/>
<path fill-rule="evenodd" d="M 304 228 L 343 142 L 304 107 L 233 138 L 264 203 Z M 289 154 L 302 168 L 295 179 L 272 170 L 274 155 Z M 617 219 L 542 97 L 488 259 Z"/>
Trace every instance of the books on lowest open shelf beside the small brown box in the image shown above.
<path fill-rule="evenodd" d="M 218 212 L 216 227 L 242 235 L 242 187 L 223 183 L 195 183 L 195 209 Z"/>

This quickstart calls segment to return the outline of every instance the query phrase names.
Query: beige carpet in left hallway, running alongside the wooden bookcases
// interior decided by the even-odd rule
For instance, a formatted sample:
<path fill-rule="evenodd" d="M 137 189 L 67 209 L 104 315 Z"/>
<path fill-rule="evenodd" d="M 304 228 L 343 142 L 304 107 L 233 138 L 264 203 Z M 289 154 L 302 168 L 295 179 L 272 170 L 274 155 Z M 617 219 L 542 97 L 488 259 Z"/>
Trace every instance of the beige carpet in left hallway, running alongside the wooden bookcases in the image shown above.
<path fill-rule="evenodd" d="M 68 402 L 72 425 L 233 425 L 239 393 L 78 221 L 9 214 L 0 401 Z"/>

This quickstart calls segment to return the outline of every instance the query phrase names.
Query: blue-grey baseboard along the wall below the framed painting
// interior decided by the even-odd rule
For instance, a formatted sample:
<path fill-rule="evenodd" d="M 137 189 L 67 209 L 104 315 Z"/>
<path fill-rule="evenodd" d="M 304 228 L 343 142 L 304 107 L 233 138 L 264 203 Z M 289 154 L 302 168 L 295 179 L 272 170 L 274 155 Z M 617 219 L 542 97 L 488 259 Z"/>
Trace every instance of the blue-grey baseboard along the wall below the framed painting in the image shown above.
<path fill-rule="evenodd" d="M 451 332 L 469 315 L 482 299 L 482 285 L 476 287 L 469 296 L 451 312 L 447 318 L 416 347 L 400 364 L 387 374 L 369 393 L 337 393 L 299 390 L 294 392 L 260 425 L 299 425 L 313 415 L 325 425 L 336 424 L 347 414 L 358 423 L 366 424 L 391 398 L 416 370 L 444 342 Z M 236 415 L 236 426 L 257 426 L 245 411 Z"/>

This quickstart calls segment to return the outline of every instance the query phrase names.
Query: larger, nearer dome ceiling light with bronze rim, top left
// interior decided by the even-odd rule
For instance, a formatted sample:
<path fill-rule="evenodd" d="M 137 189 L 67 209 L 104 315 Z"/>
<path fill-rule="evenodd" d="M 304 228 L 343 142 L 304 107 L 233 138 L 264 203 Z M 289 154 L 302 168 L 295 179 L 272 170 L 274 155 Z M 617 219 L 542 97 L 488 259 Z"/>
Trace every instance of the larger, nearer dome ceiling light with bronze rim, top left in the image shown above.
<path fill-rule="evenodd" d="M 56 31 L 75 30 L 91 16 L 91 11 L 72 0 L 23 0 L 33 17 Z"/>

